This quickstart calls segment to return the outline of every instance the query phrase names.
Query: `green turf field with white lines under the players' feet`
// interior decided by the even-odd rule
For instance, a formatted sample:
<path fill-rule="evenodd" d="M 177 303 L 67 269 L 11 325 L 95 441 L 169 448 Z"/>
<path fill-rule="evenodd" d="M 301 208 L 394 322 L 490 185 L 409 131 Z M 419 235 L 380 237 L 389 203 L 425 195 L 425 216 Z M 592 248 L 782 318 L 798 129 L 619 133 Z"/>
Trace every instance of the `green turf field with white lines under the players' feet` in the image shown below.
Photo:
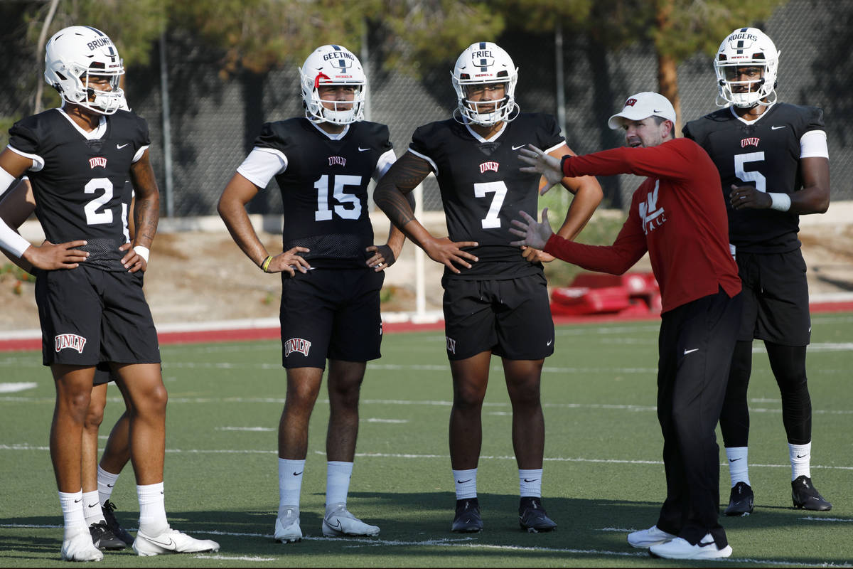
<path fill-rule="evenodd" d="M 653 560 L 625 534 L 657 519 L 664 497 L 655 415 L 658 322 L 564 326 L 543 373 L 544 505 L 559 524 L 519 531 L 518 472 L 500 360 L 483 413 L 479 498 L 485 531 L 451 533 L 447 456 L 450 373 L 439 332 L 386 334 L 368 366 L 349 507 L 380 525 L 379 538 L 322 537 L 328 404 L 311 421 L 302 489 L 301 543 L 272 539 L 278 504 L 276 427 L 284 397 L 277 341 L 166 345 L 170 393 L 166 510 L 171 525 L 218 540 L 218 554 L 137 558 L 107 552 L 108 566 L 684 566 Z M 755 513 L 723 519 L 736 566 L 853 564 L 853 314 L 813 317 L 809 386 L 814 408 L 812 477 L 831 512 L 791 507 L 780 397 L 756 345 L 751 398 Z M 0 566 L 58 566 L 61 513 L 48 444 L 53 386 L 37 352 L 0 353 L 0 382 L 32 387 L 0 394 Z M 111 386 L 106 435 L 121 414 Z M 721 458 L 724 455 L 721 453 Z M 728 470 L 721 496 L 728 502 Z M 136 528 L 131 468 L 113 501 Z M 706 562 L 707 564 L 708 562 Z M 699 565 L 699 564 L 696 564 Z"/>

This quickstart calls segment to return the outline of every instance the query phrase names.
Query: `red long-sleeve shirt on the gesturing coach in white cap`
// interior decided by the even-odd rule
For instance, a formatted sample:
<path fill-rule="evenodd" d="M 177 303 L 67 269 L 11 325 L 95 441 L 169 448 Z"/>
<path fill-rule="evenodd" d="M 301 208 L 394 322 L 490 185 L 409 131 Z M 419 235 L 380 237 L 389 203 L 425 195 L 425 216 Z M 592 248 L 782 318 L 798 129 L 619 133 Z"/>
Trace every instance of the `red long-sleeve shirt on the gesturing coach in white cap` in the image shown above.
<path fill-rule="evenodd" d="M 663 311 L 717 293 L 740 292 L 728 249 L 728 218 L 717 167 L 698 144 L 676 138 L 653 148 L 614 148 L 563 161 L 566 176 L 647 176 L 634 192 L 628 219 L 609 247 L 551 235 L 545 252 L 587 270 L 621 275 L 646 251 Z"/>

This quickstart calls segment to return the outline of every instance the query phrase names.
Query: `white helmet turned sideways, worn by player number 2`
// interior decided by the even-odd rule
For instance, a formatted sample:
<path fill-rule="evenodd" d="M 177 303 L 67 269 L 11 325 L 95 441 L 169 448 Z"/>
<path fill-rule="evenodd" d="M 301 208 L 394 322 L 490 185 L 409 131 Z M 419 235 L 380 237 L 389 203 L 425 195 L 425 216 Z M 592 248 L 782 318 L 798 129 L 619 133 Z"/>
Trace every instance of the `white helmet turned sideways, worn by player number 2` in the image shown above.
<path fill-rule="evenodd" d="M 44 80 L 65 101 L 95 113 L 113 114 L 119 110 L 125 100 L 125 92 L 119 89 L 119 76 L 124 73 L 113 40 L 94 27 L 60 30 L 44 49 Z M 93 75 L 108 77 L 111 90 L 90 87 L 89 78 Z"/>

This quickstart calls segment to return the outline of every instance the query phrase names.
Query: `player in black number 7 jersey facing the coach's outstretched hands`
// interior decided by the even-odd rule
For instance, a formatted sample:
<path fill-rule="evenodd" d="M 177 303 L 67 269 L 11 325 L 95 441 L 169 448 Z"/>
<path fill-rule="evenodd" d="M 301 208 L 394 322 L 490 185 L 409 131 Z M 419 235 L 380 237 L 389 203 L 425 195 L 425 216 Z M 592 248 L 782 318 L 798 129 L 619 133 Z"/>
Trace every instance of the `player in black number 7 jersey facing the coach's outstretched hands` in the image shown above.
<path fill-rule="evenodd" d="M 452 71 L 457 108 L 451 119 L 421 126 L 409 152 L 377 185 L 374 199 L 392 223 L 445 265 L 444 321 L 453 375 L 450 462 L 456 484 L 452 531 L 480 531 L 477 464 L 481 410 L 492 354 L 502 358 L 513 405 L 513 447 L 519 467 L 519 524 L 550 531 L 542 507 L 545 424 L 539 398 L 544 358 L 554 352 L 543 261 L 534 249 L 509 245 L 516 212 L 536 215 L 544 178 L 519 171 L 519 148 L 529 143 L 561 157 L 571 154 L 554 117 L 519 113 L 518 70 L 506 51 L 480 42 L 465 49 Z M 415 219 L 405 199 L 433 172 L 450 237 L 436 238 Z M 601 202 L 594 177 L 566 178 L 573 195 L 560 235 L 573 238 Z M 551 322 L 544 327 L 541 322 Z"/>

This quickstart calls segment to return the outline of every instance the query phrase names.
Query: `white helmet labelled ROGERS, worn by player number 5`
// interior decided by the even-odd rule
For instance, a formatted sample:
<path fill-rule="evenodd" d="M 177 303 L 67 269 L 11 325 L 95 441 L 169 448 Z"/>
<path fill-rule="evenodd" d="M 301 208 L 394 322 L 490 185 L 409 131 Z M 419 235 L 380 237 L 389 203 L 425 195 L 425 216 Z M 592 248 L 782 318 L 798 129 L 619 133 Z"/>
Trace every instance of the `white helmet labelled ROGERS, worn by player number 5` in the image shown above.
<path fill-rule="evenodd" d="M 734 81 L 737 67 L 762 67 L 763 76 L 757 81 Z M 720 90 L 717 104 L 724 107 L 754 107 L 765 97 L 775 102 L 776 71 L 779 66 L 779 52 L 767 37 L 756 27 L 741 27 L 728 34 L 722 40 L 717 57 L 714 58 L 714 71 L 717 72 L 717 87 Z M 747 85 L 746 93 L 738 93 L 733 87 Z M 722 101 L 721 101 L 722 100 Z"/>

